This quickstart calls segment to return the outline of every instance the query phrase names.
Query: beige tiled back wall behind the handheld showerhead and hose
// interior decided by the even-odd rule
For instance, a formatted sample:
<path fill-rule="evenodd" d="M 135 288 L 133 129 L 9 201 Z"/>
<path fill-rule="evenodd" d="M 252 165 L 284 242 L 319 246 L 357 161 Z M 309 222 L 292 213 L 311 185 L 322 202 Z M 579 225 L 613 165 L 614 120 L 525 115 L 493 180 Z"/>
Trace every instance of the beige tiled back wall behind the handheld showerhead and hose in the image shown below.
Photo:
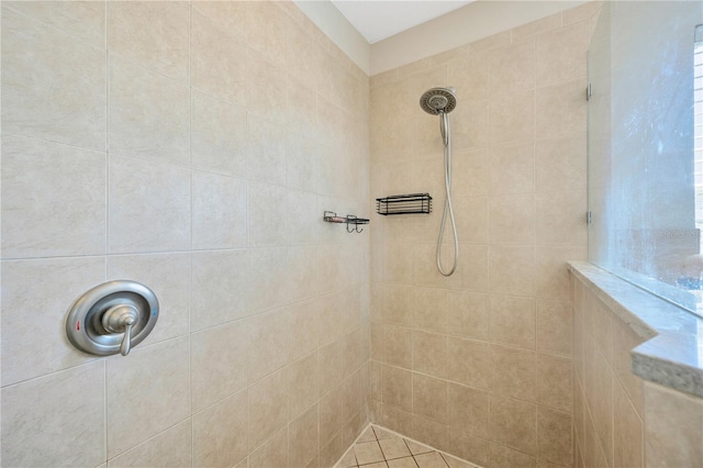
<path fill-rule="evenodd" d="M 370 80 L 369 201 L 412 191 L 434 198 L 429 215 L 389 216 L 373 226 L 371 320 L 382 312 L 386 324 L 371 325 L 370 368 L 376 360 L 402 366 L 408 379 L 439 377 L 448 389 L 443 420 L 436 412 L 443 391 L 432 399 L 420 393 L 412 409 L 399 409 L 384 399 L 393 394 L 391 375 L 372 371 L 371 420 L 412 428 L 423 442 L 478 465 L 570 466 L 576 452 L 570 426 L 578 372 L 571 369 L 584 368 L 585 353 L 578 326 L 572 330 L 583 321 L 572 312 L 566 263 L 585 255 L 582 90 L 594 12 L 558 13 Z M 416 102 L 427 88 L 448 85 L 458 96 L 450 116 L 460 254 L 456 272 L 445 278 L 435 266 L 443 144 Z M 442 260 L 451 260 L 447 233 Z M 414 293 L 405 293 L 411 288 Z M 398 358 L 408 346 L 412 367 Z M 605 454 L 593 455 L 591 465 Z M 612 455 L 607 459 L 613 466 Z"/>

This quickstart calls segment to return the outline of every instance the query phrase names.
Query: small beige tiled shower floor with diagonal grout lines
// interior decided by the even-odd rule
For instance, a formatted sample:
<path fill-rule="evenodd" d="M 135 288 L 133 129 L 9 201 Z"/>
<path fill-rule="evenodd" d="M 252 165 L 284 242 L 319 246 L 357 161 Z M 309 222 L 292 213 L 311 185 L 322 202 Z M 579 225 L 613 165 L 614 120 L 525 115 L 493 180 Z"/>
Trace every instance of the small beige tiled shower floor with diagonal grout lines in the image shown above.
<path fill-rule="evenodd" d="M 370 424 L 335 468 L 479 468 L 400 434 Z"/>

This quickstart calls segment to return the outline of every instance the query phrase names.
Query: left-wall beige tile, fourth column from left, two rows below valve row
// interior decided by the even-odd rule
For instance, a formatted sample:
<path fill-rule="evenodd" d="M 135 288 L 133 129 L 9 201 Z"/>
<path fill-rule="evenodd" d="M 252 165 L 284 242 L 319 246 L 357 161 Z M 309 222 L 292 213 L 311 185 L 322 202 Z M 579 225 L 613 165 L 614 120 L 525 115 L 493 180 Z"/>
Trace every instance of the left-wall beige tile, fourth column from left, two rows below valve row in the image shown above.
<path fill-rule="evenodd" d="M 287 369 L 249 386 L 249 452 L 288 423 Z"/>

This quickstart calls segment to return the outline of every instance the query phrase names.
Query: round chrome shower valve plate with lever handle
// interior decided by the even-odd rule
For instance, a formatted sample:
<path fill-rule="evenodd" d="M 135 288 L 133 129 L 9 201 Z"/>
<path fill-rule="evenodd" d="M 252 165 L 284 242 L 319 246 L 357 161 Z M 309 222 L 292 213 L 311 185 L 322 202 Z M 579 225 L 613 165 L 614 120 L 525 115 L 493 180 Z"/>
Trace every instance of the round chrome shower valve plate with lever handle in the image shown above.
<path fill-rule="evenodd" d="M 66 334 L 83 353 L 126 356 L 152 332 L 158 300 L 136 281 L 109 281 L 78 298 L 66 316 Z"/>

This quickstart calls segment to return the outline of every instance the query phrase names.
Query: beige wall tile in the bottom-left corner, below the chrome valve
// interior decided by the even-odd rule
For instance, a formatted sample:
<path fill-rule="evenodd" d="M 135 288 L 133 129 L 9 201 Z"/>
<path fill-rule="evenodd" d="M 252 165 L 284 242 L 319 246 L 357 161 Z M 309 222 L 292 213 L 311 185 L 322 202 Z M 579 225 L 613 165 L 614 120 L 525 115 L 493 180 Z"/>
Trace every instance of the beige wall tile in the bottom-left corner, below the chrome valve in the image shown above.
<path fill-rule="evenodd" d="M 1 394 L 4 464 L 97 466 L 105 460 L 103 361 L 4 387 Z"/>

